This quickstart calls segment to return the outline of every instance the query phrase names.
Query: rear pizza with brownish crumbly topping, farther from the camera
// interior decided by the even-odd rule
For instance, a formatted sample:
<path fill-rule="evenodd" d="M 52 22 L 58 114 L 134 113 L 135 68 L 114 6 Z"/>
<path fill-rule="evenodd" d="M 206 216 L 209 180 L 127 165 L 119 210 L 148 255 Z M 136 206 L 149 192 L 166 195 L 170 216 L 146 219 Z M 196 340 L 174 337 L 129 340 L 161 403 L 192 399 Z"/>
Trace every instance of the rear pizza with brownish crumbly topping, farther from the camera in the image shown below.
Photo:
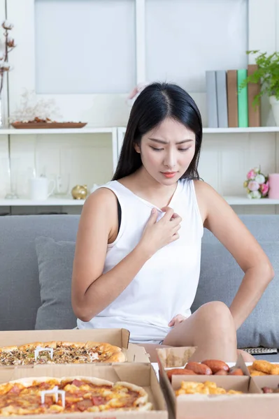
<path fill-rule="evenodd" d="M 0 365 L 78 364 L 125 360 L 125 355 L 118 346 L 92 341 L 32 342 L 0 348 Z"/>

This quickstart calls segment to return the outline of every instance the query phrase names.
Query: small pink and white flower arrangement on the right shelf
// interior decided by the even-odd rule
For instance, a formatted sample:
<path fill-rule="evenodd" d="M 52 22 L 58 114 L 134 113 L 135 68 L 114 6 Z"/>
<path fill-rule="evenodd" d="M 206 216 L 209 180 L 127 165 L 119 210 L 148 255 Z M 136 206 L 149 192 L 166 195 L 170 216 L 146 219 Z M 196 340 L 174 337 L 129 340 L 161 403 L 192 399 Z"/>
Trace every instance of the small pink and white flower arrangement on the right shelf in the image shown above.
<path fill-rule="evenodd" d="M 243 187 L 248 192 L 248 198 L 267 198 L 269 192 L 268 177 L 263 175 L 261 168 L 249 170 Z"/>

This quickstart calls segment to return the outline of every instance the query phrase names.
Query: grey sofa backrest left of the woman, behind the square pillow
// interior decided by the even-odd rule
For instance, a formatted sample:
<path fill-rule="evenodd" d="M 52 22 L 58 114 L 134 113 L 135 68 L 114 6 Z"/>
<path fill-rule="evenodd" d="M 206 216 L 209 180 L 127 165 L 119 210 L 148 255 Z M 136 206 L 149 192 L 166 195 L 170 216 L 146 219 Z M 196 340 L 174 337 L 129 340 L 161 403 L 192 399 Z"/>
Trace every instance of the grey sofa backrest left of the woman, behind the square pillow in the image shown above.
<path fill-rule="evenodd" d="M 41 305 L 35 239 L 74 242 L 79 215 L 0 216 L 0 330 L 34 330 Z"/>

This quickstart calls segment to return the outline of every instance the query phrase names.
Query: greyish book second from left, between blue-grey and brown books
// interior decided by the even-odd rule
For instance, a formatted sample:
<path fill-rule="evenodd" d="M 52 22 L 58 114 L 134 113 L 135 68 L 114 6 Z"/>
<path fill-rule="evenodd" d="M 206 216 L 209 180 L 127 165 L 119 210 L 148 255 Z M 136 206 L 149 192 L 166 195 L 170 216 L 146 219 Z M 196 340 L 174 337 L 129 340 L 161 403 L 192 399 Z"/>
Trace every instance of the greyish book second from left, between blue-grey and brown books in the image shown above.
<path fill-rule="evenodd" d="M 216 71 L 216 91 L 217 91 L 217 116 L 218 127 L 228 127 L 227 110 L 227 72 L 225 70 Z"/>

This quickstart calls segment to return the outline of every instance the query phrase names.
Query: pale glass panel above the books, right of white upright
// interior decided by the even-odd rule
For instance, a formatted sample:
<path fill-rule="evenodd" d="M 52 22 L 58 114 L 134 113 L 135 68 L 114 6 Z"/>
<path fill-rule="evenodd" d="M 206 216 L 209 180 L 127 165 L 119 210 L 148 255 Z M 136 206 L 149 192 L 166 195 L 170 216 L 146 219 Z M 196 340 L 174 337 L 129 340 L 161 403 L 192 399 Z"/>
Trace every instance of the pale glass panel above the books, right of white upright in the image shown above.
<path fill-rule="evenodd" d="M 245 68 L 248 0 L 146 0 L 146 78 L 206 91 L 206 70 Z"/>

